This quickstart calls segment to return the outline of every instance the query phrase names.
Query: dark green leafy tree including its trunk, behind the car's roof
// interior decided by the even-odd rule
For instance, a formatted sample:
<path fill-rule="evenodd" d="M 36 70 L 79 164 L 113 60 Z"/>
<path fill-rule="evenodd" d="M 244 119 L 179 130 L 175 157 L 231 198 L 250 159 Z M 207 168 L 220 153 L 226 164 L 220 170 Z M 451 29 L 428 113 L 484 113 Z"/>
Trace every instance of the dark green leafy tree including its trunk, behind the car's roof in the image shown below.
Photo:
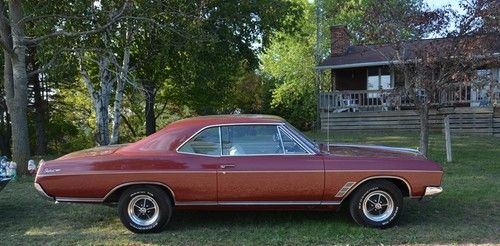
<path fill-rule="evenodd" d="M 147 133 L 155 127 L 154 112 L 161 112 L 148 106 L 157 95 L 197 114 L 242 108 L 233 104 L 233 93 L 248 92 L 235 91 L 233 85 L 241 74 L 258 67 L 258 54 L 269 45 L 272 33 L 293 31 L 303 11 L 301 5 L 283 0 L 191 1 L 170 8 L 177 11 L 155 21 L 175 23 L 176 29 L 150 30 L 141 45 L 148 50 L 132 55 L 143 65 L 137 68 L 137 79 L 148 99 Z"/>

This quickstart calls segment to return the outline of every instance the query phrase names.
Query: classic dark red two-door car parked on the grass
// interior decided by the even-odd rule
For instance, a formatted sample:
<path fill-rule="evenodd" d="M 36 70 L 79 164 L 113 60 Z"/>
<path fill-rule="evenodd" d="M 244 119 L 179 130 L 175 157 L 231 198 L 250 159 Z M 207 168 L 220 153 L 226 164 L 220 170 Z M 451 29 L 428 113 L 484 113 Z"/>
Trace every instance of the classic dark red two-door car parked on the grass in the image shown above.
<path fill-rule="evenodd" d="M 35 187 L 56 202 L 117 204 L 125 227 L 159 232 L 175 209 L 349 208 L 355 222 L 389 227 L 403 198 L 441 193 L 441 166 L 418 151 L 318 145 L 284 119 L 202 116 L 136 143 L 39 165 Z"/>

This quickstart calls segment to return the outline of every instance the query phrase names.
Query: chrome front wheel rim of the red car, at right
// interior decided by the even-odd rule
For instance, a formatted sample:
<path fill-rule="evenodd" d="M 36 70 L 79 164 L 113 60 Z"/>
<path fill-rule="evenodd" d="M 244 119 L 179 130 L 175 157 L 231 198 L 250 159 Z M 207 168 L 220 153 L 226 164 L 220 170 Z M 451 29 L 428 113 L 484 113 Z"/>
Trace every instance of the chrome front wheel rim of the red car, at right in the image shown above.
<path fill-rule="evenodd" d="M 363 199 L 363 214 L 372 221 L 386 220 L 393 211 L 394 201 L 385 191 L 372 191 Z"/>

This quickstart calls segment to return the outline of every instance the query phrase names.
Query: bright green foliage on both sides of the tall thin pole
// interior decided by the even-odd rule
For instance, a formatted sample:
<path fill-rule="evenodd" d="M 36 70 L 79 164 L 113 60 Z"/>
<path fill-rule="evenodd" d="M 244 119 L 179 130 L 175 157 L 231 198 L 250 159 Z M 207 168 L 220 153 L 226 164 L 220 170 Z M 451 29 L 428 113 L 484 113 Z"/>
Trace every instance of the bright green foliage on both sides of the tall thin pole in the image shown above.
<path fill-rule="evenodd" d="M 272 44 L 261 56 L 261 71 L 264 81 L 274 85 L 271 107 L 273 113 L 283 116 L 302 129 L 311 129 L 316 116 L 317 96 L 315 94 L 316 13 L 315 5 L 305 0 L 296 0 L 305 9 L 304 19 L 297 26 L 295 33 L 278 32 L 272 38 Z M 334 0 L 322 1 L 320 56 L 329 54 L 330 26 L 347 25 L 352 33 L 353 43 L 377 42 L 364 32 L 371 26 L 366 20 L 368 8 L 376 7 L 377 0 Z M 391 15 L 392 12 L 405 13 L 421 8 L 421 0 L 386 1 L 387 15 L 390 18 L 402 18 Z M 403 8 L 405 11 L 392 11 Z M 388 17 L 388 18 L 389 18 Z M 412 33 L 402 30 L 402 35 Z M 329 73 L 321 75 L 321 87 L 329 88 Z"/>

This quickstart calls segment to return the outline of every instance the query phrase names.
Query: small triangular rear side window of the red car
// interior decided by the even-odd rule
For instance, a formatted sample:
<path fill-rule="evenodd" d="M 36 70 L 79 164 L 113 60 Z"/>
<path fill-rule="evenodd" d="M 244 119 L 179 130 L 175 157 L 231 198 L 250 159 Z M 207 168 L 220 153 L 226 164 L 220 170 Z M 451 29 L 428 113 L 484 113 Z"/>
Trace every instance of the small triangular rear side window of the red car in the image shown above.
<path fill-rule="evenodd" d="M 220 155 L 219 127 L 212 127 L 198 133 L 194 138 L 185 143 L 179 152 Z"/>

